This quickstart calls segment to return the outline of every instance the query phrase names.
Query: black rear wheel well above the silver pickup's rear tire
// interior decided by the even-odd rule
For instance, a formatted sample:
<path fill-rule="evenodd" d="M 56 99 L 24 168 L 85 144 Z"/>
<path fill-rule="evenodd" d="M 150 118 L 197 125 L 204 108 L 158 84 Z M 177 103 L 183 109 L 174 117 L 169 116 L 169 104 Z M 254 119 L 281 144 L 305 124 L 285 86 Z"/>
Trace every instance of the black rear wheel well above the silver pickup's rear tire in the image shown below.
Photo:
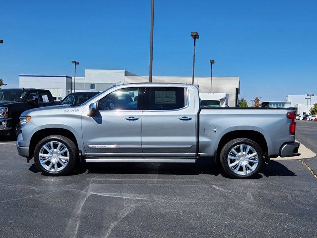
<path fill-rule="evenodd" d="M 219 145 L 217 149 L 217 158 L 216 158 L 217 162 L 219 162 L 220 152 L 223 146 L 229 141 L 237 139 L 237 138 L 247 138 L 254 141 L 263 150 L 264 156 L 267 156 L 268 147 L 267 147 L 267 142 L 263 134 L 254 130 L 235 130 L 235 131 L 228 132 L 227 134 L 222 136 L 221 140 L 219 141 Z"/>

